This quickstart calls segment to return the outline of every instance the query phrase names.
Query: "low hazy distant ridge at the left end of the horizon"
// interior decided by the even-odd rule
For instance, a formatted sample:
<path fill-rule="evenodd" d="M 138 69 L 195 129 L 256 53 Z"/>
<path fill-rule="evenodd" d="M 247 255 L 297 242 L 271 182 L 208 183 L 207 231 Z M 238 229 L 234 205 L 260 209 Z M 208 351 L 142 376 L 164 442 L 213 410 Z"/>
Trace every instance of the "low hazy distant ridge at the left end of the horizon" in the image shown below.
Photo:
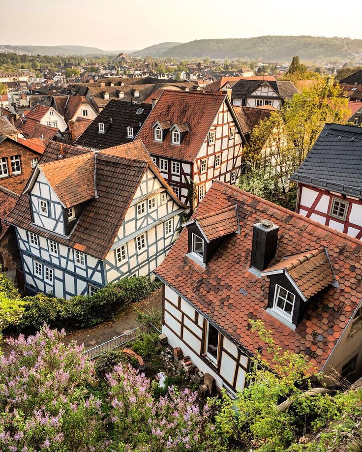
<path fill-rule="evenodd" d="M 112 55 L 120 51 L 106 51 L 96 47 L 85 46 L 9 46 L 0 45 L 0 52 L 13 52 L 26 55 L 50 55 L 50 56 L 86 56 L 86 55 Z"/>

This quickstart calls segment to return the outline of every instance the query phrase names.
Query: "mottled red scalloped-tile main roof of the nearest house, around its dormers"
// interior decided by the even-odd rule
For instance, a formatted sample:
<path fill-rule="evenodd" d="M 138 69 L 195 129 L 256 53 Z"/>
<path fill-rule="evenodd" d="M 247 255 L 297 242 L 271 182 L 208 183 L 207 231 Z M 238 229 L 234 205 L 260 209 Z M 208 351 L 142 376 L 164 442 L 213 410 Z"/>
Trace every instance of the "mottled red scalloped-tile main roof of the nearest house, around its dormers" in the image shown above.
<path fill-rule="evenodd" d="M 283 350 L 302 353 L 321 370 L 362 299 L 361 241 L 220 181 L 214 181 L 194 216 L 235 204 L 241 232 L 223 239 L 206 268 L 186 257 L 184 228 L 155 273 L 249 353 L 261 347 L 263 357 L 272 361 L 257 332 L 248 330 L 249 319 L 259 319 Z M 262 219 L 279 226 L 272 263 L 296 252 L 326 247 L 338 282 L 338 287 L 329 285 L 308 301 L 295 331 L 266 311 L 268 278 L 248 271 L 253 225 Z"/>

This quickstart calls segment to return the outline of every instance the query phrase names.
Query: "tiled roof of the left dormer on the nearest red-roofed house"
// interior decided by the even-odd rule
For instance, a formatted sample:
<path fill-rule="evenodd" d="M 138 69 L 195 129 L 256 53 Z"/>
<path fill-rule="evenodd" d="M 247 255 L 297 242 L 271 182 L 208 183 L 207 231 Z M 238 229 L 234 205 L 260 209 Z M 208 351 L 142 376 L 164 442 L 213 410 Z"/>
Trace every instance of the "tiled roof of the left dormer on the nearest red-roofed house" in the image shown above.
<path fill-rule="evenodd" d="M 202 215 L 195 219 L 209 241 L 219 239 L 239 230 L 236 206 Z"/>

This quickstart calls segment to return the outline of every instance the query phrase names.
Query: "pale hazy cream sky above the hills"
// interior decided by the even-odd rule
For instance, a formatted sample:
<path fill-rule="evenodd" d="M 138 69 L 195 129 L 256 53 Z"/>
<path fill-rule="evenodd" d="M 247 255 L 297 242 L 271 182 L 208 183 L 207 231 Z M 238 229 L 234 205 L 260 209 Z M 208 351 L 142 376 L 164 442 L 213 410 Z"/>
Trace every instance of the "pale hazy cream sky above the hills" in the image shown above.
<path fill-rule="evenodd" d="M 0 0 L 0 44 L 136 50 L 164 41 L 267 34 L 361 39 L 362 28 L 353 24 L 358 8 L 348 5 L 336 0 Z"/>

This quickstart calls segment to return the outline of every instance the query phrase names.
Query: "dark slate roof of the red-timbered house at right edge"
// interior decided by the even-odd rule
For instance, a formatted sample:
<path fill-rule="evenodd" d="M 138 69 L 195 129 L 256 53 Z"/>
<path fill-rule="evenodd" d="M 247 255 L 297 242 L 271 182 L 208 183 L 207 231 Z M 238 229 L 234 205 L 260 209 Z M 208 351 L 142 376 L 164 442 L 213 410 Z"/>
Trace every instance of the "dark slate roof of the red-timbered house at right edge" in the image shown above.
<path fill-rule="evenodd" d="M 362 128 L 326 124 L 292 181 L 362 197 Z"/>

